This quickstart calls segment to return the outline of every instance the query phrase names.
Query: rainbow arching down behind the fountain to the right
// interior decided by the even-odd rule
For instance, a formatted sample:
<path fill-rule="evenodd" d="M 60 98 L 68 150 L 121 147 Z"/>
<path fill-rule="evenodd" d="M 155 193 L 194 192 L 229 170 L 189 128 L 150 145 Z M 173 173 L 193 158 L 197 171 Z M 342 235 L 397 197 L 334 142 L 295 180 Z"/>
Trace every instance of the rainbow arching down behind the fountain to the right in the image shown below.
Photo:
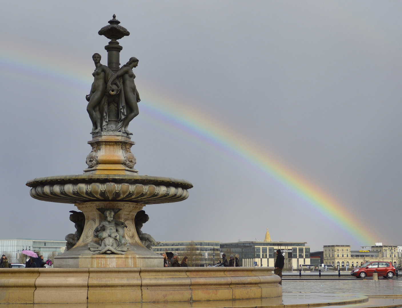
<path fill-rule="evenodd" d="M 37 57 L 23 58 L 22 55 L 0 49 L 0 67 L 20 77 L 33 75 L 37 79 L 59 83 L 83 93 L 90 89 L 92 83 L 88 72 L 77 71 L 73 65 L 59 65 L 57 61 L 49 65 L 49 57 L 43 53 Z M 82 70 L 82 67 L 80 69 Z M 308 205 L 337 225 L 357 245 L 372 245 L 376 241 L 378 236 L 375 236 L 371 229 L 355 219 L 352 220 L 350 215 L 344 215 L 350 210 L 336 202 L 318 186 L 287 168 L 266 150 L 238 134 L 235 135 L 228 127 L 214 121 L 202 111 L 188 107 L 185 103 L 180 104 L 165 97 L 157 97 L 154 91 L 142 90 L 141 93 L 140 113 L 147 121 L 167 126 L 173 133 L 180 134 L 191 142 L 201 142 L 209 150 L 229 157 L 234 162 L 246 164 L 273 179 L 304 201 L 302 204 Z"/>

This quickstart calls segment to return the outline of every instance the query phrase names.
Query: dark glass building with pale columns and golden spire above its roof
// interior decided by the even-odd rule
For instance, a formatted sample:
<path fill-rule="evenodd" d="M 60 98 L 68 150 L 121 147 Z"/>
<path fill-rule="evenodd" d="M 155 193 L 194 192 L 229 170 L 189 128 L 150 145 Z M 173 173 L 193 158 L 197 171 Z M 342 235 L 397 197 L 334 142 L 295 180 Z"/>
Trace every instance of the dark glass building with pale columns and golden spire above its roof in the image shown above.
<path fill-rule="evenodd" d="M 306 242 L 271 241 L 268 229 L 262 242 L 221 243 L 220 247 L 227 256 L 238 254 L 240 266 L 274 266 L 277 249 L 281 249 L 285 257 L 284 269 L 310 264 L 310 247 Z"/>

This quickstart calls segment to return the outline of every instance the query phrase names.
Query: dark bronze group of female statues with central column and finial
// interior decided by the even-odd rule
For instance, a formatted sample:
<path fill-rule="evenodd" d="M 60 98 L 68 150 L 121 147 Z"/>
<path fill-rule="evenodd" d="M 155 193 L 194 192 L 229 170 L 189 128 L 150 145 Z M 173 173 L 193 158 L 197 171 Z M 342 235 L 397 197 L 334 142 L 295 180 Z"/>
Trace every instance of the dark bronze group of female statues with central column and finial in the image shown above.
<path fill-rule="evenodd" d="M 138 59 L 131 57 L 129 61 L 119 67 L 119 53 L 123 47 L 117 39 L 130 33 L 119 25 L 116 15 L 109 20 L 109 25 L 99 30 L 100 35 L 111 39 L 105 46 L 108 52 L 108 65 L 100 63 L 101 56 L 95 53 L 92 60 L 95 70 L 92 73 L 92 83 L 89 95 L 86 95 L 89 118 L 92 121 L 91 134 L 100 132 L 122 132 L 132 135 L 127 130 L 128 124 L 138 115 L 137 103 L 141 100 L 135 87 L 133 68 L 137 67 Z"/>

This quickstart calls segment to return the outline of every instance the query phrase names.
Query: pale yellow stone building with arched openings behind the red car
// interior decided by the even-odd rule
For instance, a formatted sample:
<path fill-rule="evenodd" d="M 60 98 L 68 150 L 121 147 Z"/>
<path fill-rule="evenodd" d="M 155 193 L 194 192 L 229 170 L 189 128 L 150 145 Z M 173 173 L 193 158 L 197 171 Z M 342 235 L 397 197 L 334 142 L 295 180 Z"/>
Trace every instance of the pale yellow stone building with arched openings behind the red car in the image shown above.
<path fill-rule="evenodd" d="M 368 261 L 387 261 L 394 266 L 400 266 L 402 256 L 398 246 L 375 243 L 372 246 L 362 246 L 359 250 L 351 250 L 350 245 L 325 245 L 324 263 L 334 267 L 358 267 Z"/>

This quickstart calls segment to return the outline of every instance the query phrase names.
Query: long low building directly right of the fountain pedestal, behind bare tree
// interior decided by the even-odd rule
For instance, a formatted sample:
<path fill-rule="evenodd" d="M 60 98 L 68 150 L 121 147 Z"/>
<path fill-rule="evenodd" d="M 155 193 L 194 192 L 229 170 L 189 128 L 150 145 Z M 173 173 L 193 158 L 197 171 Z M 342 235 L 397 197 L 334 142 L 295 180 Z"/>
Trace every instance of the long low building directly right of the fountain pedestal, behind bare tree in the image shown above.
<path fill-rule="evenodd" d="M 219 241 L 161 242 L 157 246 L 152 246 L 152 250 L 159 255 L 164 252 L 177 253 L 180 260 L 187 256 L 193 263 L 192 266 L 200 267 L 214 265 L 221 257 Z"/>

